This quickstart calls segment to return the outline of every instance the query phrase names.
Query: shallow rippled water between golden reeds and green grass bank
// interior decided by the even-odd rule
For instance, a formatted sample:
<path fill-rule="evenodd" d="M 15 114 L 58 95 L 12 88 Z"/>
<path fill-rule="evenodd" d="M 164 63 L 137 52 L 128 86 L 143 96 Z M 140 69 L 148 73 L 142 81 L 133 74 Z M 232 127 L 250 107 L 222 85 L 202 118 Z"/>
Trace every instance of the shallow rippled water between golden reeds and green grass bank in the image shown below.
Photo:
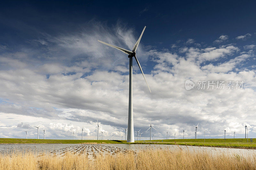
<path fill-rule="evenodd" d="M 166 144 L 0 144 L 0 153 L 8 154 L 13 151 L 31 151 L 38 154 L 51 154 L 62 156 L 67 152 L 86 154 L 90 157 L 97 154 L 138 152 L 144 149 L 188 150 L 191 152 L 208 152 L 211 154 L 238 154 L 251 156 L 256 154 L 254 149 L 216 148 L 200 146 L 166 145 Z"/>

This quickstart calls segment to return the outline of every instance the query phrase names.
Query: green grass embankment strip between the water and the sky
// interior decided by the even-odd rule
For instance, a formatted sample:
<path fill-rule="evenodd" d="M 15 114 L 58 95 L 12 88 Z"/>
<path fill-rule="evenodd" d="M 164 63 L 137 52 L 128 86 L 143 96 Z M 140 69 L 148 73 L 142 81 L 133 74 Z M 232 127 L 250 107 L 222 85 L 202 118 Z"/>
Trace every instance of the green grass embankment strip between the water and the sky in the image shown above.
<path fill-rule="evenodd" d="M 229 147 L 229 148 L 246 148 L 256 149 L 256 138 L 253 142 L 247 144 L 247 139 L 165 139 L 165 140 L 145 140 L 135 141 L 135 143 L 126 143 L 124 140 L 53 140 L 53 139 L 13 139 L 0 138 L 0 144 L 25 144 L 25 143 L 48 143 L 48 144 L 81 144 L 81 143 L 101 143 L 101 144 L 179 144 L 191 146 L 209 146 L 209 147 Z M 157 142 L 157 143 L 156 143 Z"/>

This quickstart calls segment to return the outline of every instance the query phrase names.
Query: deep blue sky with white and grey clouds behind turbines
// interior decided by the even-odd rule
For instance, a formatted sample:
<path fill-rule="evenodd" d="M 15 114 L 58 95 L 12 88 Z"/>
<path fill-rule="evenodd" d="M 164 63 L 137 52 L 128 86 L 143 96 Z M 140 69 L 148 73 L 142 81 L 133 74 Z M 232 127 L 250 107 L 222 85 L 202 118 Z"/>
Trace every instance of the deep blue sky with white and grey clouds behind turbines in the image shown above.
<path fill-rule="evenodd" d="M 68 138 L 84 126 L 85 138 L 95 139 L 97 118 L 106 137 L 124 135 L 128 58 L 97 40 L 130 50 L 145 25 L 137 56 L 152 93 L 134 66 L 135 130 L 148 129 L 151 119 L 159 138 L 166 130 L 181 137 L 181 126 L 193 138 L 199 122 L 199 136 L 208 128 L 207 136 L 222 137 L 225 128 L 230 137 L 233 131 L 243 137 L 247 123 L 255 137 L 256 120 L 250 117 L 256 110 L 255 6 L 254 1 L 3 2 L 0 127 L 6 130 L 0 137 L 22 138 L 15 130 L 38 122 L 49 138 Z M 187 79 L 244 81 L 244 89 L 187 91 Z M 31 138 L 36 132 L 29 132 Z"/>

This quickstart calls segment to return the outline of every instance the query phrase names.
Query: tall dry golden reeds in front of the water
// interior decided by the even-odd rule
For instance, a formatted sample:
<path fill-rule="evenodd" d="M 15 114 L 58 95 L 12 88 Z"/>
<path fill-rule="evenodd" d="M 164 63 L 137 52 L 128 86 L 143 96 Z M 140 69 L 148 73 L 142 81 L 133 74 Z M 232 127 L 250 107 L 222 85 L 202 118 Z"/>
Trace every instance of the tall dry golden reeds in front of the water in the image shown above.
<path fill-rule="evenodd" d="M 255 169 L 256 155 L 242 157 L 228 153 L 191 152 L 188 150 L 148 149 L 138 153 L 102 155 L 88 159 L 86 154 L 67 153 L 63 157 L 31 152 L 0 155 L 1 170 L 151 170 L 151 169 Z"/>

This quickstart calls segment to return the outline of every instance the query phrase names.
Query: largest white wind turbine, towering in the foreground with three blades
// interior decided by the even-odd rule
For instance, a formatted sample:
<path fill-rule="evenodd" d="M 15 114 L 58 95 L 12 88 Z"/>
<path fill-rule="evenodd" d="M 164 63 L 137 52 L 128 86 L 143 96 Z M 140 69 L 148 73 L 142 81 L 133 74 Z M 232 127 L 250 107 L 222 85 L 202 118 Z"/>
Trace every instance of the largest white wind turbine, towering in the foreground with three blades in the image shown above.
<path fill-rule="evenodd" d="M 133 128 L 133 106 L 132 106 L 132 57 L 135 58 L 139 68 L 140 68 L 140 71 L 146 81 L 146 84 L 148 86 L 148 82 L 145 78 L 145 75 L 141 69 L 141 66 L 140 66 L 140 63 L 136 57 L 136 50 L 138 48 L 138 45 L 140 43 L 140 40 L 141 40 L 141 37 L 142 37 L 142 34 L 144 33 L 146 29 L 146 26 L 144 27 L 144 29 L 142 30 L 142 33 L 140 34 L 140 37 L 138 39 L 138 41 L 135 43 L 134 47 L 132 48 L 132 51 L 129 51 L 129 50 L 126 50 L 124 48 L 120 48 L 120 47 L 117 47 L 117 46 L 114 46 L 114 45 L 111 45 L 111 44 L 108 44 L 106 42 L 103 42 L 103 41 L 100 41 L 98 40 L 100 43 L 103 43 L 107 46 L 110 46 L 110 47 L 113 47 L 113 48 L 116 48 L 122 52 L 124 52 L 125 54 L 128 54 L 128 58 L 129 58 L 129 108 L 128 108 L 128 131 L 127 131 L 127 142 L 134 142 L 134 134 L 133 134 L 133 131 L 134 131 L 134 128 Z M 150 91 L 150 88 L 148 86 L 148 89 Z M 151 91 L 150 91 L 151 92 Z"/>

